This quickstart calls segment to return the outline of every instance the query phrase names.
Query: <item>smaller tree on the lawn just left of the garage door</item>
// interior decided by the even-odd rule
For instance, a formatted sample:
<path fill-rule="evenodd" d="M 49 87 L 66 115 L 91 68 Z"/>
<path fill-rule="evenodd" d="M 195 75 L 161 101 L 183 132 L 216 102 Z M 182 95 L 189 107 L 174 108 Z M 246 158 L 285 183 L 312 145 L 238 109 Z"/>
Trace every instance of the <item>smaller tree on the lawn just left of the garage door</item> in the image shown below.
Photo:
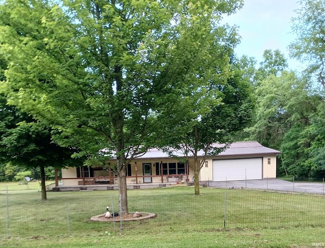
<path fill-rule="evenodd" d="M 215 68 L 223 73 L 215 73 L 213 80 L 184 90 L 175 103 L 175 112 L 165 120 L 171 124 L 166 129 L 165 150 L 171 156 L 185 158 L 194 172 L 195 195 L 200 195 L 199 173 L 207 156 L 216 156 L 226 149 L 234 141 L 234 134 L 251 121 L 251 85 L 231 58 Z"/>

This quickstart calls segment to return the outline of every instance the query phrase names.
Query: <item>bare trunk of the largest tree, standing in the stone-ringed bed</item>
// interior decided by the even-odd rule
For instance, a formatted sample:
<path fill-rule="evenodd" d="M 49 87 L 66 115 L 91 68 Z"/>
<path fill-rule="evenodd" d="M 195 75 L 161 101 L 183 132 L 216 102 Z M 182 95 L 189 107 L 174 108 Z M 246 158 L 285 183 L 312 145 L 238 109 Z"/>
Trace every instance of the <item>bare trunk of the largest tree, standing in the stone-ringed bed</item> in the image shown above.
<path fill-rule="evenodd" d="M 119 195 L 121 197 L 121 214 L 127 214 L 127 190 L 126 190 L 126 166 L 124 159 L 119 158 L 117 160 L 118 167 L 118 184 L 119 184 Z"/>

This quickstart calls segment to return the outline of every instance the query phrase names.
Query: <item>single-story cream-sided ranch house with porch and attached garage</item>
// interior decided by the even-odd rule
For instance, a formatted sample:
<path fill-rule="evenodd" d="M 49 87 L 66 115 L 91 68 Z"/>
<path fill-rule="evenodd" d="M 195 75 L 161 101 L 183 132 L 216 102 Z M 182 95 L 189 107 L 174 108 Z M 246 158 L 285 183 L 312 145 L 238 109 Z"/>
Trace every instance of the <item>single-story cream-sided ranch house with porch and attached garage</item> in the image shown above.
<path fill-rule="evenodd" d="M 276 178 L 276 155 L 279 153 L 258 142 L 234 142 L 218 155 L 206 159 L 199 181 Z M 202 153 L 199 154 L 199 158 L 202 158 L 202 155 Z M 111 164 L 115 161 L 108 160 Z M 62 169 L 61 172 L 62 178 L 56 179 L 56 186 L 61 187 L 61 190 L 71 186 L 109 186 L 118 183 L 116 175 L 105 168 L 70 167 Z M 127 165 L 126 183 L 128 185 L 183 183 L 192 181 L 192 178 L 193 172 L 187 163 L 180 162 L 155 148 L 133 159 Z M 58 183 L 59 180 L 60 183 Z"/>

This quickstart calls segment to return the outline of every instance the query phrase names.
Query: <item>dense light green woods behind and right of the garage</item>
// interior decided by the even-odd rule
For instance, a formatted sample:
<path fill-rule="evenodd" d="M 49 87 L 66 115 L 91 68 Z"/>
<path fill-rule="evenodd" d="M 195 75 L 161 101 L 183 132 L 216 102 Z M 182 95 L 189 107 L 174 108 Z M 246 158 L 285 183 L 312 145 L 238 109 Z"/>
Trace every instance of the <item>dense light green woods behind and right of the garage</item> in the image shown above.
<path fill-rule="evenodd" d="M 254 77 L 256 112 L 254 125 L 247 129 L 250 140 L 281 151 L 279 175 L 323 177 L 322 92 L 310 87 L 310 77 L 286 71 L 283 55 L 274 54 L 277 59 L 265 58 Z"/>

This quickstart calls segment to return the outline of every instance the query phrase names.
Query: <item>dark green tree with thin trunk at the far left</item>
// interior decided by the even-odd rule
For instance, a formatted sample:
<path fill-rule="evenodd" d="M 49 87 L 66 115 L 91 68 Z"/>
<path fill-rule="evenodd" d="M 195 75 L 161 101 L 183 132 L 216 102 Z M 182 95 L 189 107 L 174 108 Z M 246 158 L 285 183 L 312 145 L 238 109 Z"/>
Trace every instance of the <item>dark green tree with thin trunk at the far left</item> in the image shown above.
<path fill-rule="evenodd" d="M 0 94 L 0 159 L 6 162 L 7 171 L 11 163 L 27 170 L 40 170 L 42 200 L 46 200 L 46 169 L 81 166 L 82 160 L 71 158 L 77 152 L 75 148 L 60 147 L 53 143 L 51 130 L 44 123 L 7 105 L 6 101 Z"/>

